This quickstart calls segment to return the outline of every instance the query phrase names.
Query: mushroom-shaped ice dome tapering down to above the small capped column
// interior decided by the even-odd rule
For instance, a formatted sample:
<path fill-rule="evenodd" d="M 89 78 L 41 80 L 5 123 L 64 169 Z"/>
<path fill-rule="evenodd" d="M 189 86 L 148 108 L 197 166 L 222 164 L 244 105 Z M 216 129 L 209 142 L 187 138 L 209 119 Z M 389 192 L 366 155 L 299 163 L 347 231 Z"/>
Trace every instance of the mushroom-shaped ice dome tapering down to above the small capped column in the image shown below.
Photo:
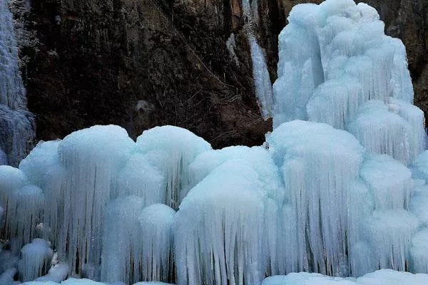
<path fill-rule="evenodd" d="M 137 144 L 166 178 L 165 204 L 178 208 L 188 192 L 188 165 L 211 145 L 189 130 L 164 125 L 145 130 Z"/>

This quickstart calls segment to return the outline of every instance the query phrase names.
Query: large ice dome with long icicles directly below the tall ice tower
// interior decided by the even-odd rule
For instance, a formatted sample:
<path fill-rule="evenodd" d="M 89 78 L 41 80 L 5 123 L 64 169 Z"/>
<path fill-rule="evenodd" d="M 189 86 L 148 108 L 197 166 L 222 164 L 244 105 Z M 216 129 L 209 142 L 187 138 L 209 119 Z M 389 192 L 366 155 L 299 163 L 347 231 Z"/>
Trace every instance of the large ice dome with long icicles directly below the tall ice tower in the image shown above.
<path fill-rule="evenodd" d="M 349 212 L 349 205 L 363 147 L 350 133 L 300 120 L 280 125 L 267 142 L 292 207 L 283 222 L 296 231 L 293 271 L 342 274 L 347 239 L 356 234 L 347 232 L 347 219 L 357 214 Z"/>

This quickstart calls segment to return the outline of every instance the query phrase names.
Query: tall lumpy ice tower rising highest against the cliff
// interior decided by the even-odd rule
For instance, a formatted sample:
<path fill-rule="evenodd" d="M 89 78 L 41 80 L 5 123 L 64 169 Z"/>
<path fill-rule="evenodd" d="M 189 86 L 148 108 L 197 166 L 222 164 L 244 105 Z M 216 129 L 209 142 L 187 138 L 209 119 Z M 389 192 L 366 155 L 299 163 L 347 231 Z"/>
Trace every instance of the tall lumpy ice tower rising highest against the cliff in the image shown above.
<path fill-rule="evenodd" d="M 401 41 L 367 4 L 295 6 L 280 33 L 274 128 L 312 120 L 349 130 L 368 152 L 409 165 L 425 146 Z M 367 102 L 370 101 L 370 102 Z"/>

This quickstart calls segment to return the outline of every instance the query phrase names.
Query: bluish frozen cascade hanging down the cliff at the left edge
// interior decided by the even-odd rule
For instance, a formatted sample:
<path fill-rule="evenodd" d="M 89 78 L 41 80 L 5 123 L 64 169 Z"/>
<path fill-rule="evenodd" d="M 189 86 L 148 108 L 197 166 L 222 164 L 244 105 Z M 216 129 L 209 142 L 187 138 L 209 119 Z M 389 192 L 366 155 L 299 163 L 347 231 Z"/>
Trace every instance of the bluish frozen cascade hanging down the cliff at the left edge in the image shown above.
<path fill-rule="evenodd" d="M 18 165 L 34 138 L 34 115 L 26 109 L 26 93 L 18 66 L 14 19 L 9 1 L 0 2 L 0 164 Z"/>

